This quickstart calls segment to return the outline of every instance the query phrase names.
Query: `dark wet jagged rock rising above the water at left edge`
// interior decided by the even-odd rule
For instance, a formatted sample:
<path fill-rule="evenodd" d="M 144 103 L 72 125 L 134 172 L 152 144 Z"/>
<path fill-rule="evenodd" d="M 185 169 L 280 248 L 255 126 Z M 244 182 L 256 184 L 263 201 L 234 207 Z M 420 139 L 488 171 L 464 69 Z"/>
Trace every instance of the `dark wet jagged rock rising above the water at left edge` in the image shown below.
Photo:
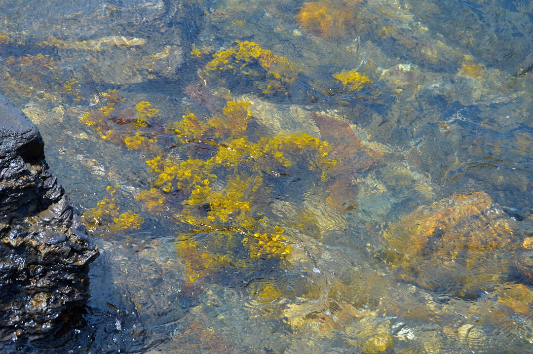
<path fill-rule="evenodd" d="M 98 248 L 44 160 L 35 125 L 0 95 L 0 340 L 39 337 L 87 297 Z"/>

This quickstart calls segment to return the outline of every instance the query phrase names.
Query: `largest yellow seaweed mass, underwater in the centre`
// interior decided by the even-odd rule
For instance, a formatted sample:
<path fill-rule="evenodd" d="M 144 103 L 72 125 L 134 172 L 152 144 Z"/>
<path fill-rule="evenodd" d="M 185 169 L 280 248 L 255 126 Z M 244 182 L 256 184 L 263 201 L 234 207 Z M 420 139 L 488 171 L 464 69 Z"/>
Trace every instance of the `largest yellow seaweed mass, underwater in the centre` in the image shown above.
<path fill-rule="evenodd" d="M 266 208 L 273 181 L 299 169 L 323 183 L 337 163 L 328 157 L 327 142 L 305 133 L 251 141 L 245 134 L 248 105 L 229 101 L 222 114 L 206 120 L 185 114 L 171 128 L 183 158 L 147 160 L 155 188 L 137 198 L 149 210 L 180 201 L 171 214 L 188 230 L 178 236 L 176 250 L 190 282 L 223 266 L 241 269 L 257 260 L 287 260 L 293 236 L 287 225 L 271 221 Z M 197 153 L 198 148 L 208 152 Z"/>

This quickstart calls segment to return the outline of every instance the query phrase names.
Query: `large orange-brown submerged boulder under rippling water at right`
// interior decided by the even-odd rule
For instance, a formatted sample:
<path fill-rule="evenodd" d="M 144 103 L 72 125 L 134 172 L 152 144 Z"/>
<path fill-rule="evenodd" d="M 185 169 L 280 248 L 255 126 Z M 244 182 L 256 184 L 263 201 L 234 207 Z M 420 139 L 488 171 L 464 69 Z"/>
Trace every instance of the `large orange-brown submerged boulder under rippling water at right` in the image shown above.
<path fill-rule="evenodd" d="M 513 231 L 484 192 L 424 205 L 391 224 L 383 236 L 397 276 L 432 290 L 475 297 L 511 271 Z"/>

